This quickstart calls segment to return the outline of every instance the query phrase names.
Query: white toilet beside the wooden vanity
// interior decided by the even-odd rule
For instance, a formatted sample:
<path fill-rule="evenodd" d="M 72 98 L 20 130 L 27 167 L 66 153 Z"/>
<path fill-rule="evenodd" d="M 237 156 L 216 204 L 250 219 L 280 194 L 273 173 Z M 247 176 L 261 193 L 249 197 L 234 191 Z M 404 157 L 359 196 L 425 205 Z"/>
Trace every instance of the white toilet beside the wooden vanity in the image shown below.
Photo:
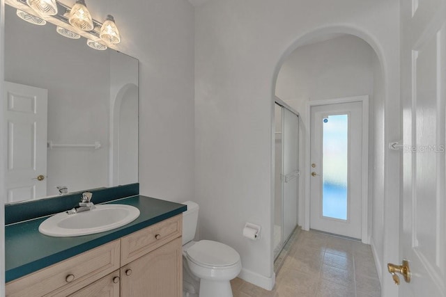
<path fill-rule="evenodd" d="M 238 252 L 226 244 L 192 241 L 197 230 L 199 206 L 183 202 L 183 296 L 233 297 L 231 283 L 242 270 Z"/>

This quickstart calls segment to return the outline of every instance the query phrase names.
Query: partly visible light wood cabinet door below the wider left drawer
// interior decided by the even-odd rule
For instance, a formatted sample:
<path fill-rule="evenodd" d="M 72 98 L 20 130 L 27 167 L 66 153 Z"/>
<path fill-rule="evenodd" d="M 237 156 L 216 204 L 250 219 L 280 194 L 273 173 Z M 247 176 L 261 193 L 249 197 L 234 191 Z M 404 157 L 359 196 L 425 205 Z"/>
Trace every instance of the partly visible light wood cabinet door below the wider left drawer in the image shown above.
<path fill-rule="evenodd" d="M 96 280 L 69 297 L 119 297 L 119 271 Z"/>

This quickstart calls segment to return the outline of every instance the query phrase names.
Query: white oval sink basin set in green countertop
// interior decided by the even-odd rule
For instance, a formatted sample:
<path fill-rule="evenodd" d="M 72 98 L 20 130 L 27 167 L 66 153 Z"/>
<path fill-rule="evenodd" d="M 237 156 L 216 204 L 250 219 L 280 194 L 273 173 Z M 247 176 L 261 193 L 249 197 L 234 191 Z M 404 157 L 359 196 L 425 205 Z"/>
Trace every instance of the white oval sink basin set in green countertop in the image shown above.
<path fill-rule="evenodd" d="M 95 205 L 95 209 L 77 214 L 55 214 L 40 224 L 39 232 L 55 237 L 94 234 L 126 225 L 138 216 L 139 209 L 130 205 Z"/>

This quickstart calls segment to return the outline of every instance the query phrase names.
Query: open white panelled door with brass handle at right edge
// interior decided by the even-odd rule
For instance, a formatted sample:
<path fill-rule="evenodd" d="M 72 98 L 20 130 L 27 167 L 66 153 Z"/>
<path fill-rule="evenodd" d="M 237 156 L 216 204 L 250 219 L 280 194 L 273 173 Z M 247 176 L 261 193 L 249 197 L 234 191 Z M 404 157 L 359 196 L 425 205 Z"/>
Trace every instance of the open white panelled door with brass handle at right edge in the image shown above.
<path fill-rule="evenodd" d="M 446 296 L 446 1 L 401 2 L 403 216 L 399 296 Z M 390 275 L 386 275 L 387 278 Z"/>

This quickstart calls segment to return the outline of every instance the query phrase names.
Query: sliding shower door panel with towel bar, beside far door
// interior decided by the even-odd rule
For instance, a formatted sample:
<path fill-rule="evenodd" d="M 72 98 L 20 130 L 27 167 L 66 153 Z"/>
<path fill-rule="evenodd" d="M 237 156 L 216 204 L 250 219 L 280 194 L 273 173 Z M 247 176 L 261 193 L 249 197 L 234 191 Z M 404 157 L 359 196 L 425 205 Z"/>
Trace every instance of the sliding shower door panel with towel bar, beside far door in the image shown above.
<path fill-rule="evenodd" d="M 284 107 L 282 111 L 282 218 L 286 241 L 298 225 L 299 118 Z"/>

